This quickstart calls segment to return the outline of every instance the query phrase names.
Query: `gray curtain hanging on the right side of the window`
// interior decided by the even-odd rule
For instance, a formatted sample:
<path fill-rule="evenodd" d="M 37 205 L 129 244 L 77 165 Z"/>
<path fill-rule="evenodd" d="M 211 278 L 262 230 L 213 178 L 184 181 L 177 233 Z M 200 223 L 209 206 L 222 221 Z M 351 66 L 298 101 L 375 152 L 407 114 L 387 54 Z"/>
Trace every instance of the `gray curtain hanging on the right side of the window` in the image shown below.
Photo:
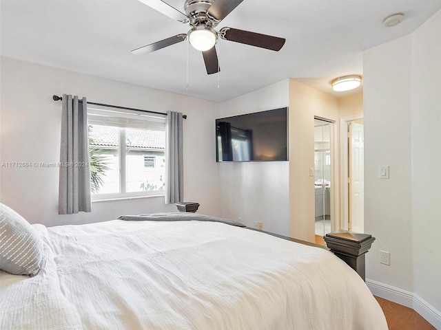
<path fill-rule="evenodd" d="M 165 143 L 165 203 L 184 201 L 182 113 L 167 111 Z"/>

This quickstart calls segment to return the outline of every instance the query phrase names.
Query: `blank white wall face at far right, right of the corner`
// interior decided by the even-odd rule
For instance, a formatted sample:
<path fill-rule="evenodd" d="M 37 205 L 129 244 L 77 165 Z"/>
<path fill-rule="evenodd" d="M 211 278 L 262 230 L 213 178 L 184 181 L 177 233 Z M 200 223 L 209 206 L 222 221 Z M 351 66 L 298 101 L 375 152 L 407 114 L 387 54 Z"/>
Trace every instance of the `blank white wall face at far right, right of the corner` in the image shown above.
<path fill-rule="evenodd" d="M 441 11 L 413 34 L 411 52 L 413 292 L 441 327 Z"/>

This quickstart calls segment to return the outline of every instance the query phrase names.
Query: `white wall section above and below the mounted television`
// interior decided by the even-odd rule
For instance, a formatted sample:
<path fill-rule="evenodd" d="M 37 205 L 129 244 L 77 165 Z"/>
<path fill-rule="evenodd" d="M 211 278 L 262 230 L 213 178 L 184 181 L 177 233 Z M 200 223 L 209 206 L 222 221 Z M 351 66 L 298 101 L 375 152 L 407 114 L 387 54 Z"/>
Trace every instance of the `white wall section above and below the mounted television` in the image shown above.
<path fill-rule="evenodd" d="M 287 107 L 288 80 L 222 102 L 218 118 Z M 213 157 L 215 157 L 213 153 Z M 249 227 L 263 222 L 263 230 L 289 234 L 288 162 L 218 163 L 220 214 L 241 219 Z"/>

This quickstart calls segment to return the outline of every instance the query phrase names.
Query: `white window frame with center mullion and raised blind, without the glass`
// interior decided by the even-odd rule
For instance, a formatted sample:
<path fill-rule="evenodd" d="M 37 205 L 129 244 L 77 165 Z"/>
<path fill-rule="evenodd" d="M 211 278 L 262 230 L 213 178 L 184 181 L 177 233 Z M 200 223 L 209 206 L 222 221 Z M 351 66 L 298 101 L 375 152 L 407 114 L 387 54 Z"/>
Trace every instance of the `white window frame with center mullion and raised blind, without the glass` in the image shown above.
<path fill-rule="evenodd" d="M 118 119 L 121 119 L 119 124 Z M 156 197 L 164 196 L 165 190 L 143 190 L 127 192 L 127 150 L 126 150 L 126 129 L 146 129 L 143 124 L 148 126 L 147 122 L 150 122 L 152 126 L 163 128 L 165 132 L 165 115 L 145 115 L 136 113 L 134 111 L 115 111 L 114 109 L 106 107 L 88 106 L 88 125 L 101 125 L 101 126 L 116 126 L 119 128 L 119 192 L 97 194 L 91 192 L 92 201 L 105 201 L 116 199 L 133 199 L 141 197 Z M 106 124 L 107 123 L 107 124 Z M 109 124 L 110 123 L 110 124 Z M 162 131 L 159 129 L 158 131 Z M 164 146 L 165 155 L 165 146 Z M 156 166 L 155 166 L 156 168 Z M 165 179 L 165 170 L 163 178 Z"/>

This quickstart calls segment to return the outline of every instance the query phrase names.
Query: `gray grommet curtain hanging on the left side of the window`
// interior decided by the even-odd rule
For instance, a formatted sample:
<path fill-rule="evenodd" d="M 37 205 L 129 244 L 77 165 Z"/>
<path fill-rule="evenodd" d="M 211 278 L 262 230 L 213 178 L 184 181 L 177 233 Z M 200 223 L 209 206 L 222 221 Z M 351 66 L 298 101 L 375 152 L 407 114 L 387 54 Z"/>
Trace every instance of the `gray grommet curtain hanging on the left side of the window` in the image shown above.
<path fill-rule="evenodd" d="M 63 94 L 59 214 L 90 212 L 89 158 L 87 101 Z"/>

